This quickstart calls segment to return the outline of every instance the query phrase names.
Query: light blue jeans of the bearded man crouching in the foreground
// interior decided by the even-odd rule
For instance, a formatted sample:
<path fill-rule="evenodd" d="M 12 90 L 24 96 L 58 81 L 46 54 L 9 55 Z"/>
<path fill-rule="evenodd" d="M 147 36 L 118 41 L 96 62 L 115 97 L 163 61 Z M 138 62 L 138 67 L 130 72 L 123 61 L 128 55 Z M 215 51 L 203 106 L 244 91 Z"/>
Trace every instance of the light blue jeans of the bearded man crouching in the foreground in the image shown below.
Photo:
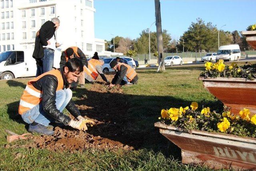
<path fill-rule="evenodd" d="M 62 112 L 64 108 L 67 106 L 68 102 L 72 98 L 72 91 L 69 88 L 65 88 L 64 90 L 58 90 L 56 92 L 56 108 Z M 55 120 L 50 117 L 48 113 L 46 113 L 43 109 L 42 102 L 36 105 L 34 108 L 27 110 L 21 115 L 24 122 L 31 124 L 32 122 L 36 122 L 38 124 L 48 126 L 50 122 L 55 122 Z"/>

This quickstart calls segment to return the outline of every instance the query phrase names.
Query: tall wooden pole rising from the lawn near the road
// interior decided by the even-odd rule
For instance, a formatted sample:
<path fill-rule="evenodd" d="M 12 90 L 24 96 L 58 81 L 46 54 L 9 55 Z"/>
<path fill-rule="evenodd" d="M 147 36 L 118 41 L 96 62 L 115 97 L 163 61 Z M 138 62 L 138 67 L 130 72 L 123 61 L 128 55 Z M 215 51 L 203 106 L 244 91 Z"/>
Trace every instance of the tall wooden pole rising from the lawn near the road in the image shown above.
<path fill-rule="evenodd" d="M 156 34 L 157 34 L 157 49 L 158 49 L 158 72 L 165 71 L 164 67 L 164 45 L 163 45 L 163 35 L 162 35 L 162 22 L 161 22 L 161 10 L 160 10 L 160 0 L 155 0 L 155 16 L 156 16 Z"/>

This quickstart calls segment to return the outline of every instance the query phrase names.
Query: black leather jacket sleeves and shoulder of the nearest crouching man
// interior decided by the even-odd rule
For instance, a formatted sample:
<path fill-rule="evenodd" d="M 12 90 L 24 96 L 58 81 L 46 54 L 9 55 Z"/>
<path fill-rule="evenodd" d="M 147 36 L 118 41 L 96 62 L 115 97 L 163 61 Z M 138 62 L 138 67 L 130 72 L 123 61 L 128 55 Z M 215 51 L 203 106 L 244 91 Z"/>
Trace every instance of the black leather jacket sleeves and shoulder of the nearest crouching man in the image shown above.
<path fill-rule="evenodd" d="M 62 73 L 64 87 L 67 88 L 69 84 L 66 81 L 63 71 L 61 69 L 59 70 Z M 54 120 L 56 120 L 57 122 L 62 122 L 64 125 L 68 125 L 71 119 L 68 116 L 64 115 L 62 112 L 60 112 L 60 110 L 58 110 L 55 105 L 56 90 L 58 87 L 57 77 L 55 77 L 54 75 L 45 75 L 44 77 L 40 78 L 38 81 L 33 82 L 32 85 L 36 89 L 42 90 L 42 105 L 43 105 L 44 111 L 47 114 L 49 114 L 49 116 Z M 80 116 L 80 112 L 72 99 L 68 102 L 66 109 L 75 118 Z"/>

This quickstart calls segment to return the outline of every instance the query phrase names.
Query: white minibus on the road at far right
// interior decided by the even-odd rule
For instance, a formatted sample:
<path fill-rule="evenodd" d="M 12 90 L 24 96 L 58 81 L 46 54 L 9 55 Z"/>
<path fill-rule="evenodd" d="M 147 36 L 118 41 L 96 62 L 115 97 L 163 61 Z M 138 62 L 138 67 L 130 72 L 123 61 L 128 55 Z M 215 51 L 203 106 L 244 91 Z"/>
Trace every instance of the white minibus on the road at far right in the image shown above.
<path fill-rule="evenodd" d="M 239 61 L 241 59 L 239 45 L 220 46 L 216 55 L 216 61 L 219 59 L 223 59 L 224 61 Z"/>

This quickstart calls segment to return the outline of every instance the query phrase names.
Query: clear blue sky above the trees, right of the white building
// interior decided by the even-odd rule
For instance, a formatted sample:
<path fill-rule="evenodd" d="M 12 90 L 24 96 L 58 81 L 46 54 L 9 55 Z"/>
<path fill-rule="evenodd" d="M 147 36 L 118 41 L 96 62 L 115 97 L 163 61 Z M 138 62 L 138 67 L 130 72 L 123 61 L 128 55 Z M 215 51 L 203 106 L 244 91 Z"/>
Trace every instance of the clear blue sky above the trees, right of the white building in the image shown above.
<path fill-rule="evenodd" d="M 162 29 L 179 39 L 192 22 L 202 18 L 224 31 L 243 31 L 256 24 L 256 0 L 160 0 Z M 95 37 L 113 35 L 136 39 L 155 21 L 154 0 L 94 0 Z M 156 31 L 155 24 L 150 31 Z M 113 34 L 113 35 L 111 35 Z"/>

